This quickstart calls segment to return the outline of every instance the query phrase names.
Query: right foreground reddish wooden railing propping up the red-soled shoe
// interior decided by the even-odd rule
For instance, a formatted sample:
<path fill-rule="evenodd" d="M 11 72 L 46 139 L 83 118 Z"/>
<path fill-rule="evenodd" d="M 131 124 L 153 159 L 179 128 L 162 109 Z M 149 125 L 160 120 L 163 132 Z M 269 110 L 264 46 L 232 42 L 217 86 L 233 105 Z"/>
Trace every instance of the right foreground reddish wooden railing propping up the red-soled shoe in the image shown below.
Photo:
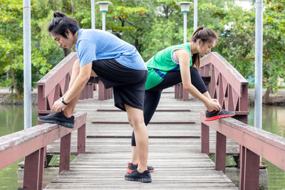
<path fill-rule="evenodd" d="M 209 155 L 209 127 L 217 131 L 216 169 L 225 173 L 227 137 L 239 143 L 239 189 L 259 189 L 259 156 L 285 170 L 285 138 L 239 122 L 224 118 L 204 121 L 201 112 L 202 152 Z"/>

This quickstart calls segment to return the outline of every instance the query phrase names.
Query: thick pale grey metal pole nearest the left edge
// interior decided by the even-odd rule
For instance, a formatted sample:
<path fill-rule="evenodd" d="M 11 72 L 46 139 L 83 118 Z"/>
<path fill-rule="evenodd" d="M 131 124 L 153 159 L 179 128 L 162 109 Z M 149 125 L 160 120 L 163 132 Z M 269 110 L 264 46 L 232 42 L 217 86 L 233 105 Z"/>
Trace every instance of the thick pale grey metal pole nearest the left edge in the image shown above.
<path fill-rule="evenodd" d="M 31 127 L 31 1 L 23 1 L 24 128 Z"/>

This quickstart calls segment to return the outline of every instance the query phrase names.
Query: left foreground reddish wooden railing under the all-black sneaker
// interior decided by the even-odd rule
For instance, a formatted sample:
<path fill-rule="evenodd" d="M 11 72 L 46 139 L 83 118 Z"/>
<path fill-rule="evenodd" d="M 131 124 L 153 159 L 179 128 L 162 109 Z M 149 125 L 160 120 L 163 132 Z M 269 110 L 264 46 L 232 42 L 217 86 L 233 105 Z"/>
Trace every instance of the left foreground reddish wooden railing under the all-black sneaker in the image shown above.
<path fill-rule="evenodd" d="M 86 113 L 77 112 L 74 128 L 37 125 L 0 137 L 0 169 L 25 157 L 23 189 L 42 189 L 46 146 L 61 138 L 59 172 L 69 170 L 71 132 L 78 130 L 77 154 L 86 152 Z"/>

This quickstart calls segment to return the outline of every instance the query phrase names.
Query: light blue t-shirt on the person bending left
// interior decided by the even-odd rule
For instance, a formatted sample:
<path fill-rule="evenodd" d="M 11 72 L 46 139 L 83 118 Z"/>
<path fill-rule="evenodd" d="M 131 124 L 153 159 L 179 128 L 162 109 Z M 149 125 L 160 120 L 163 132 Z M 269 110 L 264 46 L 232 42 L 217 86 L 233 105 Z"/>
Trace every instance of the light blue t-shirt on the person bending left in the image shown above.
<path fill-rule="evenodd" d="M 135 46 L 106 31 L 79 29 L 76 53 L 80 67 L 93 60 L 114 58 L 127 68 L 147 70 L 145 61 Z"/>

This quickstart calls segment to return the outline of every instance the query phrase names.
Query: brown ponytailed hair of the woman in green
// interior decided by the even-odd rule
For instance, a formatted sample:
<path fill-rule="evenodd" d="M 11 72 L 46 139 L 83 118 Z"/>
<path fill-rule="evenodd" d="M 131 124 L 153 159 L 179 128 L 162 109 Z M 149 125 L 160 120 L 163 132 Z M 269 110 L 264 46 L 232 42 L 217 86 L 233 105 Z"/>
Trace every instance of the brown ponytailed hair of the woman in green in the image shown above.
<path fill-rule="evenodd" d="M 207 42 L 207 41 L 218 41 L 219 36 L 215 31 L 213 31 L 210 28 L 204 28 L 203 26 L 199 26 L 196 31 L 193 33 L 191 37 L 191 41 L 196 42 L 197 40 L 201 39 L 202 40 L 202 45 Z M 200 67 L 200 55 L 199 53 L 195 53 L 192 56 L 192 63 L 193 66 L 196 68 Z"/>

